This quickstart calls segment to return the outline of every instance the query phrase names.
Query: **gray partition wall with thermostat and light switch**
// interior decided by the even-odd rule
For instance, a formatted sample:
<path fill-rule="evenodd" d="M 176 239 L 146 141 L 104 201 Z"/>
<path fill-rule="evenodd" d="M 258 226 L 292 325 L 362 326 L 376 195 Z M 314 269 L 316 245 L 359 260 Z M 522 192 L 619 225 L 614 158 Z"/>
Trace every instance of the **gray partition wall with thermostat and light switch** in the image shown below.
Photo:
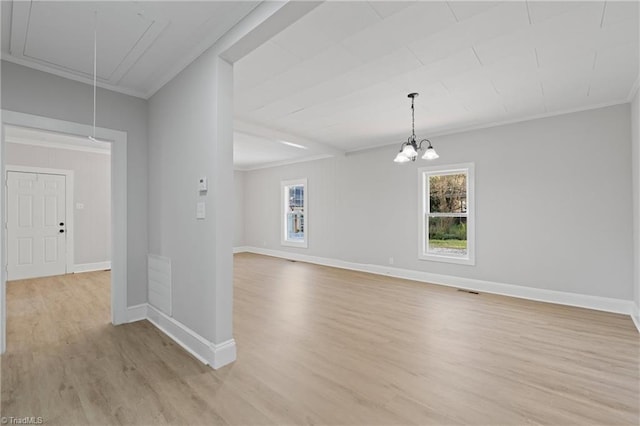
<path fill-rule="evenodd" d="M 149 252 L 171 259 L 173 317 L 214 343 L 232 337 L 232 71 L 210 49 L 149 100 Z"/>

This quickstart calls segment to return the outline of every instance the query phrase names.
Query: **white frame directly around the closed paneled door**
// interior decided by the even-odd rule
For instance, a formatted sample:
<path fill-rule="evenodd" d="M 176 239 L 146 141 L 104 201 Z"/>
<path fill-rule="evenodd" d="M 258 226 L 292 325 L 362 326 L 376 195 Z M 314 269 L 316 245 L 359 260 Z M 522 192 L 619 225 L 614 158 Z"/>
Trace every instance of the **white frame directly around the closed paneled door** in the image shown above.
<path fill-rule="evenodd" d="M 50 169 L 50 168 L 45 168 L 45 167 L 32 167 L 32 166 L 16 166 L 16 165 L 5 165 L 4 166 L 4 184 L 5 184 L 5 188 L 7 186 L 7 182 L 9 181 L 9 172 L 20 172 L 20 173 L 36 173 L 36 174 L 45 174 L 45 175 L 58 175 L 58 176 L 64 176 L 65 177 L 65 234 L 67 234 L 67 242 L 65 244 L 66 246 L 66 260 L 65 260 L 65 273 L 70 274 L 75 272 L 75 259 L 74 259 L 74 254 L 75 254 L 75 250 L 74 250 L 74 228 L 75 228 L 75 222 L 74 222 L 74 216 L 73 216 L 73 211 L 74 211 L 74 193 L 73 193 L 73 170 L 65 170 L 65 169 Z M 9 199 L 7 197 L 7 193 L 5 191 L 5 198 L 4 198 L 4 202 L 5 202 L 5 206 L 6 208 L 9 208 Z M 8 217 L 5 216 L 5 221 L 8 221 Z M 7 235 L 5 236 L 5 238 L 7 238 L 7 242 L 9 241 L 9 231 L 8 231 L 8 226 L 9 223 L 5 222 L 5 230 L 7 232 Z M 7 243 L 7 247 L 8 247 L 8 243 Z M 5 263 L 6 267 L 9 267 L 8 262 Z M 7 271 L 7 274 L 9 273 L 9 271 Z"/>

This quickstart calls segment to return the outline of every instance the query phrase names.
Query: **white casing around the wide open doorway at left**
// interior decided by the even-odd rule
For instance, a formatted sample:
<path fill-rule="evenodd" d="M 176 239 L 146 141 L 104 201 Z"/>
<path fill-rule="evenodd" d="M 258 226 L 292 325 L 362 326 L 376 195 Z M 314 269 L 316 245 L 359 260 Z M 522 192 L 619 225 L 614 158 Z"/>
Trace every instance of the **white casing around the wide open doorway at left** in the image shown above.
<path fill-rule="evenodd" d="M 1 175 L 5 176 L 4 144 L 5 125 L 65 133 L 76 136 L 91 135 L 93 128 L 87 124 L 58 120 L 21 112 L 0 110 Z M 96 138 L 111 142 L 111 323 L 127 322 L 127 132 L 96 127 Z M 2 208 L 0 223 L 6 223 L 5 186 L 0 185 Z M 7 236 L 0 227 L 0 353 L 6 349 L 6 292 L 7 292 Z"/>

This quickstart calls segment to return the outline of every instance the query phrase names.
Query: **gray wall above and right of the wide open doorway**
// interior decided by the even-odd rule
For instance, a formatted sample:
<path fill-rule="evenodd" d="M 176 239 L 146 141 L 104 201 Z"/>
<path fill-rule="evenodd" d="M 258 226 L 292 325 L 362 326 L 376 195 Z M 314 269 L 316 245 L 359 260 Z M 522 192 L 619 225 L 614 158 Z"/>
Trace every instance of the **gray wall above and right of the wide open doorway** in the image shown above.
<path fill-rule="evenodd" d="M 2 109 L 91 125 L 92 87 L 2 61 Z M 127 304 L 147 300 L 147 102 L 98 89 L 97 126 L 127 132 Z"/>

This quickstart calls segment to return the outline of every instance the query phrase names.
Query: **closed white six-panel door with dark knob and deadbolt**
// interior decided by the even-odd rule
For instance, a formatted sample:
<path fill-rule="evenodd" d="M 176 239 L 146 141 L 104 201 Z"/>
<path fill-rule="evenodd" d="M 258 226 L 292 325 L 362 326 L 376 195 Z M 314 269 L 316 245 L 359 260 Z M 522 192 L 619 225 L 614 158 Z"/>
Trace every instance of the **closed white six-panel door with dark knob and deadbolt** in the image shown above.
<path fill-rule="evenodd" d="M 7 279 L 67 272 L 66 177 L 7 172 Z"/>

